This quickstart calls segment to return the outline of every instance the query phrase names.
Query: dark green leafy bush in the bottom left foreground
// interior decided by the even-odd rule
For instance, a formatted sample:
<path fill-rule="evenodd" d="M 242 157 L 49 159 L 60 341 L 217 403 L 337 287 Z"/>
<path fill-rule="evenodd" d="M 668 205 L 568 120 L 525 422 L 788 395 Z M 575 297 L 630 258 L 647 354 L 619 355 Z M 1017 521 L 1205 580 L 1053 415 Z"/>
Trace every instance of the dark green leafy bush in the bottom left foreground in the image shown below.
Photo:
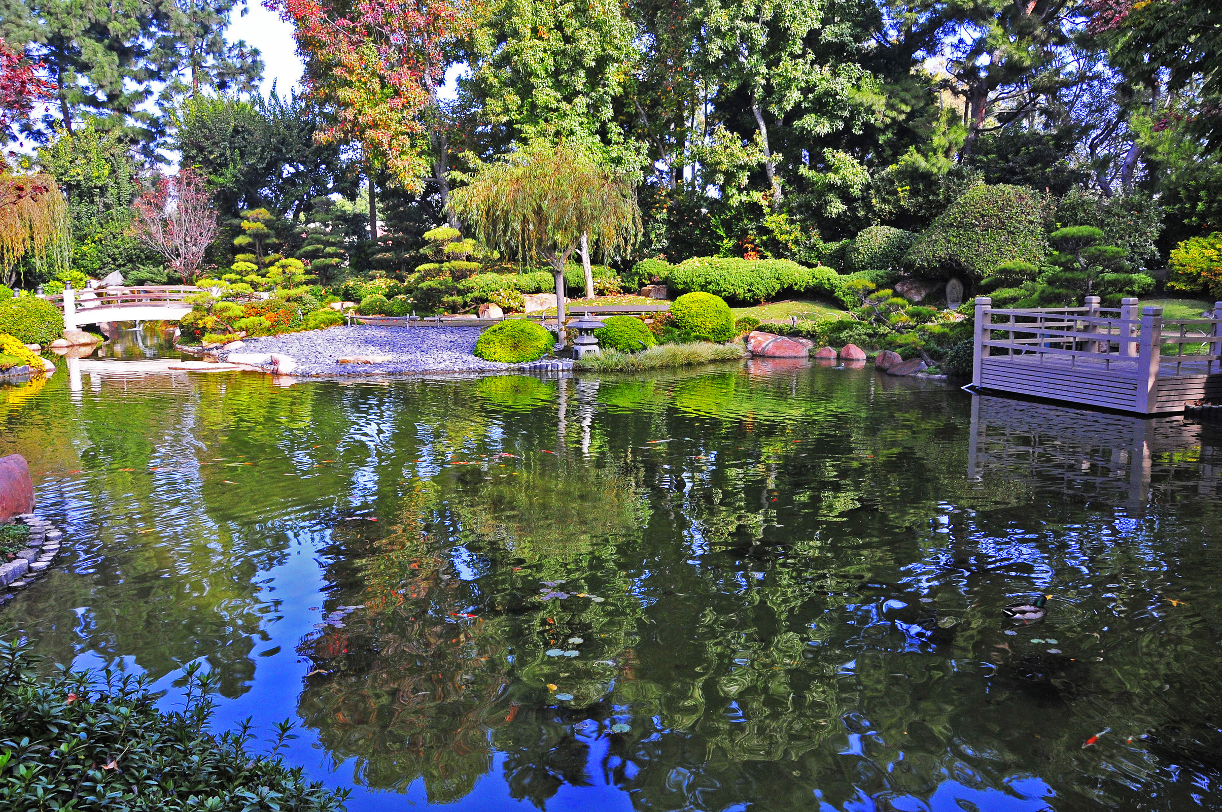
<path fill-rule="evenodd" d="M 329 812 L 346 794 L 247 747 L 243 726 L 209 731 L 216 677 L 188 666 L 181 712 L 156 709 L 148 677 L 35 671 L 26 642 L 0 641 L 0 808 L 101 812 Z"/>

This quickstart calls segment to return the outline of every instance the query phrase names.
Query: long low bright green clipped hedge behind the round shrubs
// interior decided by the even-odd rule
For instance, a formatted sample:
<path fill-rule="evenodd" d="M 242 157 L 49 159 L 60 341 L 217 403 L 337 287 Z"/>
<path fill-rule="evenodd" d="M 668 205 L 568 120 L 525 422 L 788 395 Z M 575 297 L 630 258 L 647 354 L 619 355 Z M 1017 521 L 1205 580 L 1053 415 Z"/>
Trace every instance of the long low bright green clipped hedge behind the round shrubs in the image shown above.
<path fill-rule="evenodd" d="M 759 303 L 782 291 L 826 296 L 848 303 L 841 276 L 831 268 L 805 268 L 788 259 L 693 257 L 667 271 L 675 292 L 705 292 L 734 302 Z"/>

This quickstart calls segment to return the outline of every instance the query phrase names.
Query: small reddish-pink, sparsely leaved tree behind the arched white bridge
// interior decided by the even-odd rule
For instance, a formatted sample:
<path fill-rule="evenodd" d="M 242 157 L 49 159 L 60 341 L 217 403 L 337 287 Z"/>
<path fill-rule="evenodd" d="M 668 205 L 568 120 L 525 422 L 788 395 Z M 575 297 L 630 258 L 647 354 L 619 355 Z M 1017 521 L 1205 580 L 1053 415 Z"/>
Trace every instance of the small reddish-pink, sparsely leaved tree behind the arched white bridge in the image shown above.
<path fill-rule="evenodd" d="M 136 237 L 165 257 L 183 281 L 193 282 L 204 252 L 216 238 L 216 209 L 203 175 L 186 168 L 161 177 L 133 207 Z"/>

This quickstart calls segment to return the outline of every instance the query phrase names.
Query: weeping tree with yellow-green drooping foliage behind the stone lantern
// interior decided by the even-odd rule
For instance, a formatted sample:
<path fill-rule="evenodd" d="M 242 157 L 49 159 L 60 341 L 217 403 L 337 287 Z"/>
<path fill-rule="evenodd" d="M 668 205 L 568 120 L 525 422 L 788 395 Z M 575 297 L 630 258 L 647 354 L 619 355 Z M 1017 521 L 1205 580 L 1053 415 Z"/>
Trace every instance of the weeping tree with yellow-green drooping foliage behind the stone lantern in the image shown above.
<path fill-rule="evenodd" d="M 632 181 L 582 144 L 538 139 L 478 163 L 450 196 L 450 209 L 485 245 L 521 256 L 540 254 L 556 276 L 556 308 L 565 322 L 565 263 L 588 235 L 609 252 L 640 236 Z M 563 342 L 563 331 L 561 331 Z"/>

